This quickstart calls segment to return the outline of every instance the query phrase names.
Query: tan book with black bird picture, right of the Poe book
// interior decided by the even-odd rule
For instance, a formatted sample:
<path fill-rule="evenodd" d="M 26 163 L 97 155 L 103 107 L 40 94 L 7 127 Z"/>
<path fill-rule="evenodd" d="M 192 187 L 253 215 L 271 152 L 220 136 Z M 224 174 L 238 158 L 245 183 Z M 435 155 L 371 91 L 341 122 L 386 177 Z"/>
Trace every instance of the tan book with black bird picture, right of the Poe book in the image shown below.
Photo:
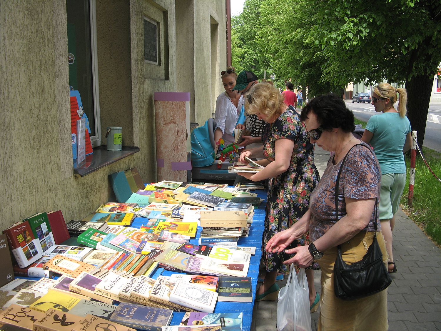
<path fill-rule="evenodd" d="M 46 306 L 49 307 L 49 305 Z M 84 319 L 84 316 L 76 316 L 51 308 L 45 312 L 44 317 L 34 322 L 34 331 L 72 331 L 76 327 L 78 327 L 76 330 L 79 330 Z"/>

